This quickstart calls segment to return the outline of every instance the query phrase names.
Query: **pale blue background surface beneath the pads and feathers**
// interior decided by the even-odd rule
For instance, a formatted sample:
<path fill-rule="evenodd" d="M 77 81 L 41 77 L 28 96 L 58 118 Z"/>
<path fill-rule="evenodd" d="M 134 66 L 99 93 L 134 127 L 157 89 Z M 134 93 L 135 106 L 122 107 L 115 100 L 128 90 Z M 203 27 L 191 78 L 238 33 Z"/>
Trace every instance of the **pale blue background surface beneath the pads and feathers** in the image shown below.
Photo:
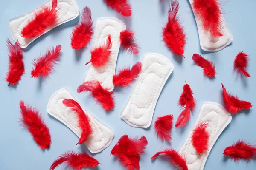
<path fill-rule="evenodd" d="M 145 154 L 141 156 L 141 170 L 170 169 L 175 170 L 167 161 L 157 159 L 151 162 L 151 156 L 163 147 L 173 147 L 178 150 L 183 144 L 186 136 L 195 122 L 201 104 L 205 101 L 222 103 L 221 83 L 224 83 L 228 91 L 236 94 L 240 99 L 256 104 L 256 1 L 255 0 L 232 0 L 224 3 L 225 19 L 227 26 L 233 34 L 234 40 L 230 46 L 217 53 L 206 53 L 201 50 L 198 39 L 198 31 L 188 0 L 180 0 L 180 18 L 187 34 L 186 50 L 182 57 L 175 57 L 166 48 L 161 40 L 161 28 L 167 20 L 168 3 L 160 5 L 159 0 L 130 0 L 133 14 L 125 18 L 107 8 L 103 0 L 77 0 L 79 9 L 88 6 L 92 11 L 93 20 L 99 17 L 113 16 L 126 23 L 128 28 L 136 31 L 137 42 L 140 44 L 140 54 L 131 56 L 125 51 L 119 51 L 116 68 L 133 65 L 141 61 L 143 54 L 148 52 L 160 53 L 168 57 L 174 64 L 174 71 L 163 88 L 158 99 L 153 121 L 157 116 L 174 114 L 177 119 L 180 107 L 177 105 L 178 98 L 182 92 L 185 80 L 191 85 L 198 101 L 191 120 L 183 129 L 172 129 L 172 141 L 168 144 L 161 142 L 154 135 L 152 125 L 147 129 L 134 128 L 127 125 L 120 118 L 120 112 L 124 107 L 134 84 L 129 88 L 115 88 L 116 107 L 113 111 L 106 113 L 99 107 L 88 94 L 77 94 L 76 88 L 82 83 L 87 70 L 84 65 L 89 59 L 89 50 L 92 42 L 84 51 L 76 52 L 70 47 L 70 34 L 73 26 L 79 21 L 79 17 L 65 23 L 47 34 L 38 38 L 29 45 L 24 52 L 24 63 L 26 73 L 17 86 L 8 87 L 4 81 L 8 67 L 8 57 L 5 39 L 10 38 L 8 31 L 8 20 L 32 10 L 44 3 L 44 0 L 4 0 L 0 5 L 0 81 L 1 87 L 1 117 L 0 117 L 0 170 L 47 170 L 57 156 L 67 150 L 88 152 L 85 145 L 76 146 L 78 137 L 68 127 L 53 119 L 46 112 L 49 97 L 60 88 L 68 88 L 99 120 L 110 126 L 115 132 L 115 138 L 111 145 L 102 153 L 93 155 L 102 165 L 92 170 L 122 170 L 114 156 L 109 156 L 116 141 L 124 134 L 129 136 L 146 136 L 148 147 Z M 62 45 L 62 56 L 56 65 L 55 71 L 46 79 L 32 79 L 30 71 L 32 60 L 37 58 L 52 45 Z M 240 77 L 233 71 L 233 60 L 239 51 L 250 55 L 249 72 L 250 78 Z M 208 79 L 203 76 L 201 68 L 193 64 L 192 54 L 202 54 L 203 57 L 215 62 L 217 75 L 215 79 Z M 20 127 L 19 101 L 24 100 L 41 111 L 44 121 L 49 127 L 52 144 L 49 150 L 42 151 L 33 141 L 32 136 Z M 234 163 L 231 159 L 225 159 L 222 155 L 224 148 L 233 144 L 238 139 L 249 142 L 256 141 L 256 113 L 255 106 L 248 111 L 241 111 L 238 115 L 232 116 L 230 125 L 224 130 L 215 143 L 207 159 L 205 170 L 255 170 L 256 161 L 246 163 L 240 161 Z M 92 154 L 90 154 L 92 155 Z M 62 167 L 56 170 L 64 169 Z"/>

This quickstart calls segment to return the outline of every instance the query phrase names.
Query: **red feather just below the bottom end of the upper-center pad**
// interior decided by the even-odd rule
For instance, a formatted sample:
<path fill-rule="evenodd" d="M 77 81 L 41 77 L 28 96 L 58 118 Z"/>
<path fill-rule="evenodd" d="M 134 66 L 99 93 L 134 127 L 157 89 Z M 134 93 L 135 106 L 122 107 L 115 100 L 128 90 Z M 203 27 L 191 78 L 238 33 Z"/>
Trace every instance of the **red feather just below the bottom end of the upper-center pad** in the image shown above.
<path fill-rule="evenodd" d="M 109 91 L 108 88 L 103 88 L 100 82 L 91 81 L 84 82 L 79 85 L 77 92 L 81 93 L 83 91 L 90 91 L 93 98 L 100 103 L 100 105 L 106 110 L 109 111 L 115 107 L 114 94 L 113 91 Z"/>

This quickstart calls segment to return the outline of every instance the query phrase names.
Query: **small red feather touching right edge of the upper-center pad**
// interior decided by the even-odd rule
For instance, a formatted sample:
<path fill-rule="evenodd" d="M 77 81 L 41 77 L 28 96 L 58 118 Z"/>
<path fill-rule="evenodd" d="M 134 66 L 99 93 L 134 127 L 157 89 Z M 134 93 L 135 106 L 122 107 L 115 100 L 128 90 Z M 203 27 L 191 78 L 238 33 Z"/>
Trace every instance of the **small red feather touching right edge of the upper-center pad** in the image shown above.
<path fill-rule="evenodd" d="M 139 46 L 135 42 L 134 31 L 123 30 L 120 32 L 120 43 L 129 53 L 138 54 Z"/>

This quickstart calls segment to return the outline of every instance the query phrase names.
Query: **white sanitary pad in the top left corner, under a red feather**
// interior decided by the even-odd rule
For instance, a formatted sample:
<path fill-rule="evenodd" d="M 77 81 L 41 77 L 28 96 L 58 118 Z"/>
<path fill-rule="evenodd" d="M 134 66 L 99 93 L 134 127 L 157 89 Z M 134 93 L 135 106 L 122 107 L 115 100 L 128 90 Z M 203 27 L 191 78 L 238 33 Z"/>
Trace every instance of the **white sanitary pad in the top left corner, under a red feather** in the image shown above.
<path fill-rule="evenodd" d="M 47 2 L 42 4 L 41 6 L 51 7 L 52 0 L 47 0 Z M 32 11 L 29 11 L 26 14 L 14 17 L 9 20 L 9 31 L 12 36 L 12 40 L 14 40 L 15 42 L 18 40 L 21 48 L 27 47 L 31 42 L 33 42 L 41 35 L 47 33 L 48 31 L 63 23 L 75 19 L 79 15 L 79 8 L 76 4 L 76 0 L 58 0 L 58 6 L 56 8 L 58 9 L 57 22 L 53 26 L 47 28 L 41 35 L 32 38 L 21 37 L 21 30 L 27 25 L 29 21 L 33 20 L 33 18 L 35 17 L 35 12 L 39 11 L 41 9 L 41 6 L 38 6 L 37 8 L 35 8 Z"/>

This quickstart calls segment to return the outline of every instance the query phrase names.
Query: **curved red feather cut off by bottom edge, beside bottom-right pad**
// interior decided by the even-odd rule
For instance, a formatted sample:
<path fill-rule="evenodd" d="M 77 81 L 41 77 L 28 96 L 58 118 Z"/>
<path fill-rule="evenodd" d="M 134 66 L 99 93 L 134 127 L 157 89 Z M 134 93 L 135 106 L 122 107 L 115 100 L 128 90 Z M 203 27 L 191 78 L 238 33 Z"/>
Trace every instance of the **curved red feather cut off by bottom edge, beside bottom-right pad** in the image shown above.
<path fill-rule="evenodd" d="M 157 152 L 152 156 L 151 160 L 155 159 L 158 155 L 162 155 L 163 157 L 169 157 L 169 162 L 179 168 L 180 170 L 188 170 L 186 165 L 186 159 L 177 153 L 174 149 L 166 149 L 160 152 Z"/>

